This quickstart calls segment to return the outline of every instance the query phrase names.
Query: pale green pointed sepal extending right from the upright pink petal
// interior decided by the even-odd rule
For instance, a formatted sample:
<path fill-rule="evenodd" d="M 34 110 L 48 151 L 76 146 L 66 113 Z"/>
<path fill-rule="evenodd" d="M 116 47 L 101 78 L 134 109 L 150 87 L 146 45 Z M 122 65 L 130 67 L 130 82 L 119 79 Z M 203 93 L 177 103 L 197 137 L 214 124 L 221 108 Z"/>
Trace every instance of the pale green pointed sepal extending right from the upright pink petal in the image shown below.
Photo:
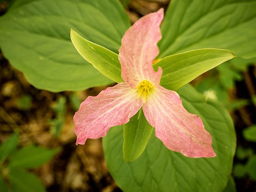
<path fill-rule="evenodd" d="M 222 49 L 198 49 L 165 57 L 153 65 L 156 70 L 162 67 L 160 85 L 177 91 L 202 73 L 220 63 L 232 59 L 234 54 Z"/>

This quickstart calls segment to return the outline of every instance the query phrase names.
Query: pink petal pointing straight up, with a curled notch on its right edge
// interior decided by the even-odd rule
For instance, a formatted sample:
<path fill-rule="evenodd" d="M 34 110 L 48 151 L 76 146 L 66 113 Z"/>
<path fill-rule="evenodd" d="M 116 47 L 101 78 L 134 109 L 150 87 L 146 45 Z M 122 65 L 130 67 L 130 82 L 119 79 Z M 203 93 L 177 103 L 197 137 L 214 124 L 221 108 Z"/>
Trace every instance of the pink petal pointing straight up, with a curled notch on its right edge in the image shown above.
<path fill-rule="evenodd" d="M 135 22 L 124 34 L 118 59 L 122 78 L 135 89 L 141 81 L 147 80 L 154 87 L 160 83 L 162 68 L 155 72 L 152 62 L 159 53 L 157 42 L 162 38 L 160 24 L 164 9 L 150 13 Z"/>

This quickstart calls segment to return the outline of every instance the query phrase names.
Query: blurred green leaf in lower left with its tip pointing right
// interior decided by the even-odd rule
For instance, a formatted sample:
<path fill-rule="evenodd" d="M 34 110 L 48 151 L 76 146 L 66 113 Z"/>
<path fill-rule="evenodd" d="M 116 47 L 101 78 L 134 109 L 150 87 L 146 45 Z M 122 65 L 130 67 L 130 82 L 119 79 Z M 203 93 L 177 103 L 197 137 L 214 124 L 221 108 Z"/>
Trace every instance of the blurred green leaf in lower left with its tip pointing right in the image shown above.
<path fill-rule="evenodd" d="M 40 146 L 29 145 L 21 148 L 10 158 L 9 167 L 33 168 L 48 162 L 60 148 L 49 149 Z"/>

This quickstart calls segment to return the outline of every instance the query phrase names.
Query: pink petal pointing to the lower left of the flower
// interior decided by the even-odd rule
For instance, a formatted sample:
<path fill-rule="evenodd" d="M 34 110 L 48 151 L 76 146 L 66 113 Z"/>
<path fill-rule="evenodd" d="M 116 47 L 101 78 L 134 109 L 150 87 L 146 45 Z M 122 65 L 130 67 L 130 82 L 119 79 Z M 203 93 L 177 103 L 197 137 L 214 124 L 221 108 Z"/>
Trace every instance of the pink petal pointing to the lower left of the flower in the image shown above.
<path fill-rule="evenodd" d="M 137 96 L 137 90 L 126 82 L 108 87 L 96 97 L 89 96 L 74 115 L 76 144 L 104 137 L 110 127 L 127 123 L 143 104 Z"/>

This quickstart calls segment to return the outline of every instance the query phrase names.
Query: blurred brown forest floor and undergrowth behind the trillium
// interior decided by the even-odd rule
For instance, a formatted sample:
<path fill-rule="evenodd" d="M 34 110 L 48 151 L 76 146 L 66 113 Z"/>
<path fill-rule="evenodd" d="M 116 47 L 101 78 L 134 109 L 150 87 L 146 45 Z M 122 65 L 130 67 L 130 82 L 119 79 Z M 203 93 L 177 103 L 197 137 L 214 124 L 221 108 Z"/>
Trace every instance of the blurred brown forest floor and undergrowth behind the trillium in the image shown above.
<path fill-rule="evenodd" d="M 13 2 L 0 0 L 0 15 L 5 14 Z M 133 23 L 160 7 L 166 9 L 169 1 L 122 0 L 122 4 Z M 255 63 L 256 58 L 235 58 L 191 82 L 206 98 L 220 101 L 234 121 L 237 134 L 234 180 L 230 178 L 225 192 L 256 191 Z M 38 192 L 121 191 L 106 167 L 101 139 L 88 139 L 86 145 L 76 146 L 73 133 L 72 117 L 80 103 L 88 95 L 95 96 L 106 87 L 59 93 L 36 89 L 1 53 L 1 192 L 8 191 L 10 186 L 13 192 L 22 191 L 20 182 L 16 182 L 18 180 L 23 183 L 34 181 L 37 188 L 30 187 Z M 29 155 L 33 154 L 38 162 L 30 159 L 33 157 Z M 24 188 L 23 191 L 28 190 Z"/>

